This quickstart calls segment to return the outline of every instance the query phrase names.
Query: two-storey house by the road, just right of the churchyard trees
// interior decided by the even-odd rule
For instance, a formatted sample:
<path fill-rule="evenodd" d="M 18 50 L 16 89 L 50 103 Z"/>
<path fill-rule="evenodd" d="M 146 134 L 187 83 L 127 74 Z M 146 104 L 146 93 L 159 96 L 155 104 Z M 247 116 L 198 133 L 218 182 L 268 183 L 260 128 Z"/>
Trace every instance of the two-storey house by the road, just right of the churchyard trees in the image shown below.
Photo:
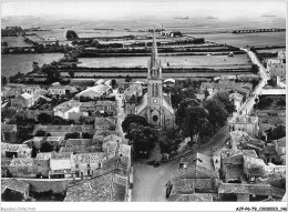
<path fill-rule="evenodd" d="M 237 117 L 235 120 L 229 122 L 229 130 L 245 131 L 251 138 L 258 137 L 258 132 L 259 132 L 258 117 L 250 117 L 250 115 Z"/>

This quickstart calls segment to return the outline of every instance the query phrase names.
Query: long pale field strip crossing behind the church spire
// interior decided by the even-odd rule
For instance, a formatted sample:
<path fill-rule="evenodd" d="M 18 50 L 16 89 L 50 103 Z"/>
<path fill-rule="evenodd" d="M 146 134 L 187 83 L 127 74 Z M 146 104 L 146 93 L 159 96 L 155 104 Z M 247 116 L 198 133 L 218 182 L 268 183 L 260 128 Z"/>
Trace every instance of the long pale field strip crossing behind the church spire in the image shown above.
<path fill-rule="evenodd" d="M 119 58 L 81 58 L 80 67 L 147 67 L 150 57 Z M 203 68 L 247 68 L 250 62 L 246 54 L 227 55 L 174 55 L 161 57 L 162 65 L 169 67 L 203 67 Z"/>

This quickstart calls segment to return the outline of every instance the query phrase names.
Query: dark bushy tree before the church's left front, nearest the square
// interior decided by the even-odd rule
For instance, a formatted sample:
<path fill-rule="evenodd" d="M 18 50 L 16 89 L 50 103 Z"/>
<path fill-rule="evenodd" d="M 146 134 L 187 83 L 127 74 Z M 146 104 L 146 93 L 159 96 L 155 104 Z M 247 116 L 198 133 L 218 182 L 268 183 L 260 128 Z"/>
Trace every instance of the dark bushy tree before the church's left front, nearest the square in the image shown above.
<path fill-rule="evenodd" d="M 154 142 L 157 141 L 157 134 L 158 132 L 151 127 L 131 123 L 125 138 L 132 142 L 136 157 L 148 157 L 150 151 L 154 148 Z"/>

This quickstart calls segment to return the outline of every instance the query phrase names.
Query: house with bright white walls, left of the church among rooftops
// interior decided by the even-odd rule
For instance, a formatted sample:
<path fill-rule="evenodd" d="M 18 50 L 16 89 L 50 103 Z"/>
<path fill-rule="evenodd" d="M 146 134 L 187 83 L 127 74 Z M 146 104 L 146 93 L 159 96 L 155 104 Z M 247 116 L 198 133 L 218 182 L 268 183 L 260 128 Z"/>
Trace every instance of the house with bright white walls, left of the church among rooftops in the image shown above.
<path fill-rule="evenodd" d="M 62 119 L 69 119 L 69 113 L 79 113 L 80 112 L 80 102 L 76 100 L 70 100 L 63 102 L 53 108 L 54 117 L 61 117 Z"/>

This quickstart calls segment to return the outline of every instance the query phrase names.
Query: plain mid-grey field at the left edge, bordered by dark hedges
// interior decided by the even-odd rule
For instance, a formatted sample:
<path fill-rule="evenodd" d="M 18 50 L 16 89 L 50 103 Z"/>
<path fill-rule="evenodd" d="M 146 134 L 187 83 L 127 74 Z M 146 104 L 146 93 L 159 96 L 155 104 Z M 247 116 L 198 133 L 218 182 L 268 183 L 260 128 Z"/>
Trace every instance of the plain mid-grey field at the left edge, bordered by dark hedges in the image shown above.
<path fill-rule="evenodd" d="M 32 71 L 32 62 L 35 61 L 39 65 L 58 61 L 63 57 L 62 53 L 34 53 L 34 54 L 1 54 L 1 75 L 10 77 L 19 71 L 28 73 Z"/>

